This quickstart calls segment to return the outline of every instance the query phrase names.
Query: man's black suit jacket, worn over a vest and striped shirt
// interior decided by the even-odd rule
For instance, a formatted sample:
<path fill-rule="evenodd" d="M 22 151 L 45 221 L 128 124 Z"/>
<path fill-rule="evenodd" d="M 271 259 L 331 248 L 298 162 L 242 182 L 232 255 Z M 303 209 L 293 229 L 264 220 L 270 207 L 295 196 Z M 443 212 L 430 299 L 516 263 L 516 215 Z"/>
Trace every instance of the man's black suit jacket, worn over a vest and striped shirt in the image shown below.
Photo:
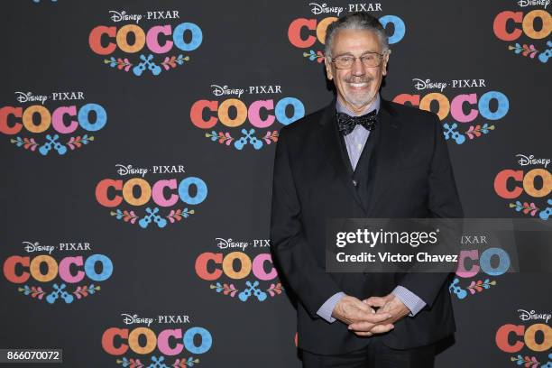
<path fill-rule="evenodd" d="M 299 301 L 299 348 L 343 354 L 363 348 L 369 338 L 405 349 L 450 336 L 455 320 L 446 273 L 325 271 L 327 218 L 463 217 L 441 123 L 435 114 L 382 100 L 380 131 L 368 140 L 373 145 L 372 179 L 363 206 L 365 198 L 354 188 L 343 153 L 335 104 L 282 128 L 274 160 L 271 253 L 281 279 Z M 387 295 L 397 285 L 427 306 L 384 335 L 358 337 L 344 323 L 329 324 L 317 316 L 338 291 L 365 299 Z"/>

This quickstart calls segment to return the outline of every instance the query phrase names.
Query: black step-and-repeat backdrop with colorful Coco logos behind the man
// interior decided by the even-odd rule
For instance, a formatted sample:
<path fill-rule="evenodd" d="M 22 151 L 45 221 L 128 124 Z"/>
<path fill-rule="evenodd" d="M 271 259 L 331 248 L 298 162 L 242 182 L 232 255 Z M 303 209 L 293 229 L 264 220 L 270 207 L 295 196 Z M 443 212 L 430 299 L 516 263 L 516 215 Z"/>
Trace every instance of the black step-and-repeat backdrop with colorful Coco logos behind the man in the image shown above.
<path fill-rule="evenodd" d="M 388 32 L 382 97 L 442 120 L 465 215 L 549 221 L 549 3 L 2 2 L 0 348 L 299 367 L 274 147 L 332 99 L 324 36 L 351 12 Z M 549 274 L 470 262 L 437 366 L 551 367 Z"/>

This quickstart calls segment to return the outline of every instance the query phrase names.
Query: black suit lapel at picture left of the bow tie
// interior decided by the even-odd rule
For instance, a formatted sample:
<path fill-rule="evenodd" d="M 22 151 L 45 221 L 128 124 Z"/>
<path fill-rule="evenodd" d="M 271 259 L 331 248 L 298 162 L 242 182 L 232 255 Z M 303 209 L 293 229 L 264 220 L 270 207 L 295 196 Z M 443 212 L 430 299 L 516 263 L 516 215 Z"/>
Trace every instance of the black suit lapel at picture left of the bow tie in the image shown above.
<path fill-rule="evenodd" d="M 320 128 L 322 150 L 326 154 L 327 160 L 330 161 L 332 167 L 336 170 L 336 175 L 342 181 L 345 190 L 354 198 L 354 201 L 363 210 L 365 215 L 366 212 L 362 200 L 353 185 L 353 170 L 344 147 L 345 143 L 343 143 L 337 129 L 336 99 L 332 100 L 330 105 L 324 109 L 320 124 L 322 125 Z"/>

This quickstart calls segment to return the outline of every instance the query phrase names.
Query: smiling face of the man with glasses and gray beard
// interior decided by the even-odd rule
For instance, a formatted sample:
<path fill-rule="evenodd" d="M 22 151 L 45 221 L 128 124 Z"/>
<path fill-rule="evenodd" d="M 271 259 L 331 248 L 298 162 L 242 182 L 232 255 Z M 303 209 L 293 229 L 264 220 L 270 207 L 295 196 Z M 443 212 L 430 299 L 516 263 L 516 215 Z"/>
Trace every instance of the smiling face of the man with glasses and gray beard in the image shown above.
<path fill-rule="evenodd" d="M 352 55 L 360 57 L 366 52 L 382 53 L 377 35 L 369 30 L 339 30 L 334 35 L 332 57 Z M 354 60 L 351 69 L 336 69 L 326 58 L 327 78 L 334 80 L 339 102 L 356 114 L 361 114 L 376 98 L 387 74 L 389 53 L 385 53 L 378 67 L 364 67 L 360 59 Z"/>

